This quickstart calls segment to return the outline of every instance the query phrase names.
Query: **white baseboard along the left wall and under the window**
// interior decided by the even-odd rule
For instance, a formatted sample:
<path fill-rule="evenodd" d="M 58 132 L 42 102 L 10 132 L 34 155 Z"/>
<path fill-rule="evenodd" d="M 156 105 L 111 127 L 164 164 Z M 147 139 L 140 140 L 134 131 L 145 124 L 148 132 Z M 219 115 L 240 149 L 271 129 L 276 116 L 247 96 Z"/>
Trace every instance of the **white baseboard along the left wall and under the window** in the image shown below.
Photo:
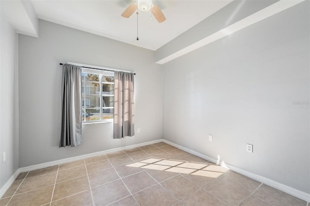
<path fill-rule="evenodd" d="M 159 143 L 159 142 L 163 142 L 163 139 L 157 139 L 157 140 L 144 142 L 144 143 L 140 143 L 140 144 L 129 145 L 129 146 L 125 146 L 125 147 L 118 147 L 118 148 L 108 149 L 108 150 L 104 150 L 104 151 L 100 151 L 100 152 L 93 152 L 90 154 L 79 155 L 76 157 L 65 158 L 62 160 L 56 160 L 56 161 L 52 161 L 52 162 L 45 162 L 45 163 L 35 164 L 35 165 L 27 166 L 27 167 L 21 167 L 21 168 L 17 169 L 16 172 L 10 177 L 10 179 L 3 185 L 3 187 L 0 188 L 0 198 L 11 187 L 11 185 L 15 181 L 16 177 L 22 172 L 28 172 L 31 170 L 41 169 L 41 168 L 45 168 L 45 167 L 50 167 L 50 166 L 54 166 L 54 165 L 67 163 L 67 162 L 83 160 L 85 158 L 95 157 L 97 155 L 102 155 L 102 154 L 108 154 L 110 152 L 122 151 L 125 149 L 131 149 L 131 148 L 135 148 L 135 147 L 143 147 L 146 145 L 151 145 L 151 144 L 155 144 L 155 143 Z"/>

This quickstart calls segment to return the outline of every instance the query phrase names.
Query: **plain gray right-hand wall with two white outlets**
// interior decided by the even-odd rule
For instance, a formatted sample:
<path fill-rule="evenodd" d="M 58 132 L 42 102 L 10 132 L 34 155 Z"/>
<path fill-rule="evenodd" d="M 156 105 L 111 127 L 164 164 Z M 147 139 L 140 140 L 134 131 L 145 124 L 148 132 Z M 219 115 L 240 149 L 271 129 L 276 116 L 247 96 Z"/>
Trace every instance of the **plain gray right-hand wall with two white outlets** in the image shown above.
<path fill-rule="evenodd" d="M 310 193 L 309 19 L 305 1 L 164 64 L 164 139 Z"/>

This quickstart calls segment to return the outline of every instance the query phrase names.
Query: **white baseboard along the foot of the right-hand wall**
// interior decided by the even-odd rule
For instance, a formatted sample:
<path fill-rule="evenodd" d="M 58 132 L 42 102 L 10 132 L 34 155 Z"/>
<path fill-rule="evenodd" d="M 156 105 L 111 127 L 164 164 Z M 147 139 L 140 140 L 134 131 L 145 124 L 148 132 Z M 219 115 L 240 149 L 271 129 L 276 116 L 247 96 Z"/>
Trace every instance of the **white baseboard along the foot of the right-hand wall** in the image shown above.
<path fill-rule="evenodd" d="M 266 178 L 266 177 L 263 177 L 263 176 L 260 176 L 260 175 L 256 175 L 256 174 L 254 174 L 254 173 L 248 172 L 248 171 L 243 170 L 243 169 L 241 169 L 241 168 L 235 167 L 235 166 L 233 166 L 233 165 L 231 165 L 231 164 L 228 164 L 228 163 L 226 163 L 226 162 L 223 162 L 223 161 L 218 162 L 216 159 L 214 159 L 214 158 L 212 158 L 212 157 L 203 155 L 203 154 L 201 154 L 201 153 L 199 153 L 199 152 L 196 152 L 196 151 L 194 151 L 194 150 L 191 150 L 191 149 L 188 149 L 188 148 L 186 148 L 186 147 L 177 145 L 177 144 L 175 144 L 175 143 L 173 143 L 173 142 L 170 142 L 170 141 L 168 141 L 168 140 L 165 140 L 165 139 L 164 139 L 163 142 L 165 142 L 165 143 L 167 143 L 167 144 L 169 144 L 169 145 L 172 145 L 172 146 L 174 146 L 174 147 L 177 147 L 177 148 L 179 148 L 179 149 L 182 149 L 182 150 L 184 150 L 184 151 L 186 151 L 186 152 L 188 152 L 188 153 L 190 153 L 190 154 L 193 154 L 193 155 L 196 155 L 196 156 L 198 156 L 198 157 L 201 157 L 202 159 L 205 159 L 205 160 L 207 160 L 207 161 L 209 161 L 209 162 L 214 162 L 214 163 L 217 163 L 217 164 L 222 165 L 222 166 L 224 166 L 224 167 L 227 167 L 228 169 L 230 169 L 230 170 L 232 170 L 232 171 L 234 171 L 234 172 L 236 172 L 236 173 L 239 173 L 239 174 L 241 174 L 241 175 L 243 175 L 243 176 L 246 176 L 246 177 L 249 177 L 249 178 L 251 178 L 251 179 L 254 179 L 254 180 L 256 180 L 256 181 L 258 181 L 258 182 L 261 182 L 261 183 L 263 183 L 263 184 L 265 184 L 265 185 L 268 185 L 268 186 L 270 186 L 270 187 L 276 188 L 276 189 L 279 190 L 279 191 L 283 191 L 283 192 L 285 192 L 285 193 L 288 193 L 288 194 L 290 194 L 290 195 L 292 195 L 292 196 L 294 196 L 294 197 L 297 197 L 297 198 L 299 198 L 299 199 L 302 199 L 302 200 L 304 200 L 304 201 L 306 201 L 306 202 L 308 202 L 308 203 L 310 202 L 310 194 L 308 194 L 308 193 L 306 193 L 306 192 L 296 190 L 296 189 L 294 189 L 294 188 L 291 188 L 291 187 L 289 187 L 289 186 L 283 185 L 283 184 L 281 184 L 281 183 L 279 183 L 279 182 L 276 182 L 276 181 L 274 181 L 274 180 L 271 180 L 271 179 L 268 179 L 268 178 Z M 309 205 L 309 204 L 308 204 L 308 205 Z"/>

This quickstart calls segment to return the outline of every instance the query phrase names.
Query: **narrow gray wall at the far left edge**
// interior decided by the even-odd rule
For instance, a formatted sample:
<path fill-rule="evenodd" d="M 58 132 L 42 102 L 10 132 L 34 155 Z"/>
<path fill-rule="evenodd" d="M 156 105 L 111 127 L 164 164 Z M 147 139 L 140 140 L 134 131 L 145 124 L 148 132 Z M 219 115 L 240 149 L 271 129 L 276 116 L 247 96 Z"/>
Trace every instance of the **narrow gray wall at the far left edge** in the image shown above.
<path fill-rule="evenodd" d="M 18 169 L 17 33 L 0 13 L 0 188 Z M 2 162 L 2 154 L 6 161 Z"/>

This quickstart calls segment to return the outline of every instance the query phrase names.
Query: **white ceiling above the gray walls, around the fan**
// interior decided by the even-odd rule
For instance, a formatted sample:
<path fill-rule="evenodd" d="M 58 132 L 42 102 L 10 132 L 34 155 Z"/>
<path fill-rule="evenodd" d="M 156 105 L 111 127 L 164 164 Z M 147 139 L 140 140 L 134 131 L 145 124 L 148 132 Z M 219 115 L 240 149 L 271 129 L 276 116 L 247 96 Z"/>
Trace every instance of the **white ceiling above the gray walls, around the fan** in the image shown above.
<path fill-rule="evenodd" d="M 167 20 L 150 20 L 151 12 L 129 18 L 121 14 L 134 0 L 31 0 L 40 19 L 124 43 L 156 50 L 214 14 L 232 0 L 154 0 Z"/>

